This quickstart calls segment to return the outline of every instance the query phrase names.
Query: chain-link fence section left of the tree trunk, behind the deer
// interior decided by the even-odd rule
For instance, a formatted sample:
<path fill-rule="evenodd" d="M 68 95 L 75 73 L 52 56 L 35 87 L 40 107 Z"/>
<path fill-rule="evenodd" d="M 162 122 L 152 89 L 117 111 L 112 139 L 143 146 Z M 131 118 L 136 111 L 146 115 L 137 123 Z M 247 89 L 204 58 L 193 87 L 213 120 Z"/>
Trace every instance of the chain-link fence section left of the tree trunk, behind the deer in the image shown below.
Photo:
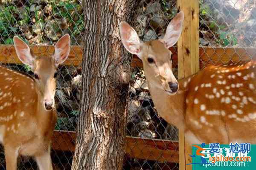
<path fill-rule="evenodd" d="M 13 37 L 17 35 L 29 45 L 37 45 L 37 48 L 32 47 L 35 54 L 50 55 L 53 49 L 47 45 L 55 44 L 64 34 L 70 35 L 71 45 L 82 46 L 83 28 L 84 15 L 79 0 L 2 0 L 0 2 L 0 44 L 3 47 L 3 51 L 0 50 L 1 64 L 32 75 L 28 66 L 15 64 L 14 49 L 4 45 L 12 45 Z M 70 53 L 79 60 L 76 51 Z M 77 127 L 80 87 L 81 63 L 80 65 L 77 62 L 70 63 L 58 68 L 55 95 L 58 120 L 55 130 L 69 132 L 66 136 L 55 136 L 58 137 L 54 141 L 55 147 L 66 147 L 66 151 L 52 150 L 52 161 L 56 170 L 71 169 L 73 149 L 69 148 L 65 140 L 67 137 L 74 139 L 71 138 L 73 133 L 70 131 L 76 131 Z M 31 158 L 22 157 L 18 162 L 20 170 L 37 169 L 35 161 Z M 0 169 L 5 169 L 3 150 L 0 155 Z"/>

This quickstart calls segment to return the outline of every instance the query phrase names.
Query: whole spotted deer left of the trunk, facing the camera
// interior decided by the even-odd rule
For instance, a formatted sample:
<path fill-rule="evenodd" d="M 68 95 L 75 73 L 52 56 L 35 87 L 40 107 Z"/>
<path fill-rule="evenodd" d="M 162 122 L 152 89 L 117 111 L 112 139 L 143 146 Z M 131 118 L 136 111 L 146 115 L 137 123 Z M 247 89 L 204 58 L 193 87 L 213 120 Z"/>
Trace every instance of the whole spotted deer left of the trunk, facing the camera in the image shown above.
<path fill-rule="evenodd" d="M 50 142 L 57 120 L 54 109 L 56 72 L 70 52 L 70 36 L 61 37 L 51 57 L 32 54 L 29 46 L 13 38 L 20 61 L 35 78 L 0 66 L 0 143 L 6 169 L 17 170 L 17 156 L 33 156 L 40 170 L 52 170 Z"/>

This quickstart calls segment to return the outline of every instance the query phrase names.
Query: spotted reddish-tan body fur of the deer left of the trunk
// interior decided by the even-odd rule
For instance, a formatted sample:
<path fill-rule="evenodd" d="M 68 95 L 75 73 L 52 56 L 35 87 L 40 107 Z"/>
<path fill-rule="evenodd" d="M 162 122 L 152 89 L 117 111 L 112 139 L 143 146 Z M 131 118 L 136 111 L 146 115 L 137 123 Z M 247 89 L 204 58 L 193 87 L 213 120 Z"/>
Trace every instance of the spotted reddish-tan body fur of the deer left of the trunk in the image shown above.
<path fill-rule="evenodd" d="M 44 60 L 49 58 L 44 57 Z M 48 74 L 49 69 L 42 71 Z M 0 106 L 3 107 L 0 126 L 5 127 L 2 132 L 5 153 L 11 155 L 9 151 L 15 150 L 19 155 L 35 157 L 47 153 L 57 119 L 56 111 L 46 111 L 42 107 L 41 96 L 36 90 L 38 85 L 32 78 L 0 66 L 0 79 Z M 11 159 L 6 160 L 10 162 L 6 164 L 7 170 L 16 170 L 17 157 Z"/>

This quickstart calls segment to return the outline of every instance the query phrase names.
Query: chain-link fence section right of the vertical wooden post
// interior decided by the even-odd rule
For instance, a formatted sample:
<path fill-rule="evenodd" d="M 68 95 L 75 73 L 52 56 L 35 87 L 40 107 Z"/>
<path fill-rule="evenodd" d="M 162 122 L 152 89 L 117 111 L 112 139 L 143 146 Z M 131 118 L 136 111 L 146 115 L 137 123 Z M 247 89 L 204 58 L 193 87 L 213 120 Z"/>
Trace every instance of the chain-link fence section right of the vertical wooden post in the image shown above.
<path fill-rule="evenodd" d="M 201 68 L 252 59 L 256 46 L 255 0 L 199 1 Z M 212 46 L 218 48 L 210 48 Z"/>

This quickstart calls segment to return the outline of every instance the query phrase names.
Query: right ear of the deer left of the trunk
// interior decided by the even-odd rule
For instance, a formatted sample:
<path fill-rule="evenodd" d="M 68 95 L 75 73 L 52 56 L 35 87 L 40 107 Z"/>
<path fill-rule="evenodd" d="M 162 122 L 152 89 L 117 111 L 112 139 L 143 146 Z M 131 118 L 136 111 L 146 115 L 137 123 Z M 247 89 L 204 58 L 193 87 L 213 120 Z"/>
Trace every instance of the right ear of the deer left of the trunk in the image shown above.
<path fill-rule="evenodd" d="M 53 58 L 55 61 L 55 67 L 58 67 L 63 63 L 70 53 L 70 36 L 65 34 L 54 46 Z"/>

